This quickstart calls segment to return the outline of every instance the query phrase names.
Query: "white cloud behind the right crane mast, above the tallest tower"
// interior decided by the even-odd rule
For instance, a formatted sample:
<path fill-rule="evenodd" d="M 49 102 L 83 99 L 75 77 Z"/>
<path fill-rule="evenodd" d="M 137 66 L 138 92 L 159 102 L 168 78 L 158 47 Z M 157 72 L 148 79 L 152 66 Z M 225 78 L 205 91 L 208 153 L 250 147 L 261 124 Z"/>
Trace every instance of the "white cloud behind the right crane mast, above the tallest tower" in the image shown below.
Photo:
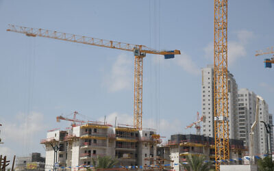
<path fill-rule="evenodd" d="M 228 63 L 229 65 L 234 64 L 236 60 L 247 55 L 247 45 L 249 40 L 254 37 L 252 31 L 240 30 L 235 32 L 237 40 L 229 41 L 228 46 Z M 213 42 L 208 43 L 208 45 L 203 48 L 205 57 L 213 61 L 214 46 Z"/>

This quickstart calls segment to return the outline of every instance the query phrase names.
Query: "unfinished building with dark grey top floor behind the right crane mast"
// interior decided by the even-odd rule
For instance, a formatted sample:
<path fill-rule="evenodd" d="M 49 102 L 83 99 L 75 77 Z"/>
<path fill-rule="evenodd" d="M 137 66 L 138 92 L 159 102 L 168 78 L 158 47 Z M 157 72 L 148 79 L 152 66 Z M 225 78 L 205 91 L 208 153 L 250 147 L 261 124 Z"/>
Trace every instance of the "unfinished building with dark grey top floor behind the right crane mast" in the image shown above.
<path fill-rule="evenodd" d="M 230 160 L 234 164 L 241 164 L 236 159 L 244 156 L 245 148 L 242 140 L 229 139 Z M 171 139 L 166 144 L 162 144 L 157 148 L 157 155 L 171 160 L 165 161 L 164 164 L 170 164 L 173 170 L 182 170 L 182 166 L 186 162 L 187 155 L 205 155 L 208 162 L 215 161 L 214 137 L 206 137 L 204 135 L 171 135 Z M 228 161 L 227 161 L 228 162 Z"/>

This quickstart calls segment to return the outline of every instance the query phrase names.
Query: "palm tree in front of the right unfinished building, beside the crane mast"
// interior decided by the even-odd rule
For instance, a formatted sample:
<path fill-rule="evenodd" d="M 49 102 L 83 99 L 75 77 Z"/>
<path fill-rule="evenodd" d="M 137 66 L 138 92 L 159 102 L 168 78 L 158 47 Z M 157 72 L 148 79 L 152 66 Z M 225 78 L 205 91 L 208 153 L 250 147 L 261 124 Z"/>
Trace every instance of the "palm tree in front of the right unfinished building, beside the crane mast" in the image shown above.
<path fill-rule="evenodd" d="M 206 156 L 204 155 L 188 155 L 186 156 L 187 164 L 184 168 L 188 171 L 207 171 L 210 169 L 210 163 L 206 163 Z"/>

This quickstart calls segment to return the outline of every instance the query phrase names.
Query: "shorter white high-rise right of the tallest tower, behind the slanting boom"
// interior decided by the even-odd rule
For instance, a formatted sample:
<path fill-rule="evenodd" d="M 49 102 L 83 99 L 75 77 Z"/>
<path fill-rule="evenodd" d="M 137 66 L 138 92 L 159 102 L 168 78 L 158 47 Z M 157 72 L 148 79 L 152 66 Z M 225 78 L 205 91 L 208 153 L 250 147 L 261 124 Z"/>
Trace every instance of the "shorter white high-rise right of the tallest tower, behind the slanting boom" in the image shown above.
<path fill-rule="evenodd" d="M 238 137 L 243 140 L 245 146 L 249 146 L 249 134 L 251 126 L 256 119 L 256 101 L 260 98 L 259 103 L 259 121 L 254 131 L 254 153 L 256 155 L 266 154 L 267 151 L 267 134 L 264 123 L 272 122 L 272 115 L 269 115 L 269 105 L 264 99 L 247 88 L 238 90 Z M 271 140 L 273 144 L 273 140 Z"/>

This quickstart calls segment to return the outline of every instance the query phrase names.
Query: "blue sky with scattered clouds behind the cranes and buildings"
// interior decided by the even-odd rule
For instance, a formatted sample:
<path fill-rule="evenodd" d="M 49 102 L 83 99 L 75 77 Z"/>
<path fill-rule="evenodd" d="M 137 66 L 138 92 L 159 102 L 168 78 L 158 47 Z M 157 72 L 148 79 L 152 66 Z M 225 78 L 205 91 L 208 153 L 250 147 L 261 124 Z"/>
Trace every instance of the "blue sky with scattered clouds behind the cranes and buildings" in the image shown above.
<path fill-rule="evenodd" d="M 45 153 L 47 130 L 68 127 L 60 114 L 133 120 L 130 52 L 7 32 L 8 24 L 179 49 L 173 60 L 144 60 L 143 122 L 168 137 L 190 133 L 201 111 L 201 68 L 212 64 L 214 1 L 0 0 L 0 152 Z M 273 46 L 274 1 L 229 1 L 229 70 L 238 88 L 262 96 L 274 113 L 273 69 L 256 50 Z"/>

